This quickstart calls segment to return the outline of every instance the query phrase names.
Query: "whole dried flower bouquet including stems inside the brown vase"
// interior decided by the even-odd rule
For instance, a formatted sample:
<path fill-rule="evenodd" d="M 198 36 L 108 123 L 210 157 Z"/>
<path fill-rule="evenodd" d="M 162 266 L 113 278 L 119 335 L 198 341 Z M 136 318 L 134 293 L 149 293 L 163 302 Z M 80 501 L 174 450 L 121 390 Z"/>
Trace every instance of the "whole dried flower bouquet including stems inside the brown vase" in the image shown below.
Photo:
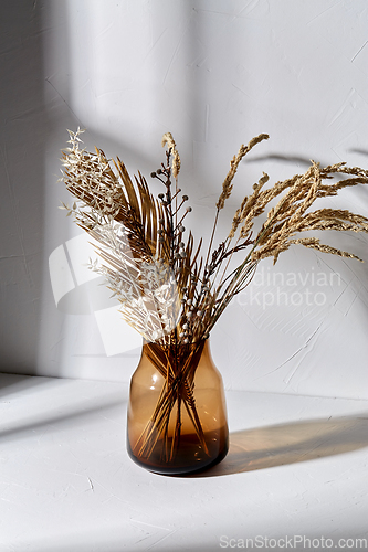
<path fill-rule="evenodd" d="M 208 251 L 202 240 L 194 245 L 185 227 L 191 212 L 188 197 L 178 187 L 180 157 L 171 134 L 164 135 L 166 160 L 151 178 L 162 192 L 154 198 L 140 172 L 133 182 L 125 164 L 111 161 L 101 149 L 94 153 L 80 147 L 82 130 L 70 131 L 70 147 L 63 152 L 63 178 L 76 199 L 61 209 L 98 243 L 102 263 L 91 265 L 103 275 L 120 302 L 123 318 L 144 338 L 146 353 L 165 379 L 161 394 L 144 428 L 136 450 L 149 457 L 159 439 L 162 455 L 172 460 L 180 442 L 181 411 L 190 417 L 199 442 L 206 440 L 193 396 L 196 369 L 204 340 L 232 298 L 251 282 L 257 264 L 269 256 L 277 261 L 292 244 L 324 253 L 358 258 L 317 237 L 301 237 L 306 231 L 336 230 L 368 232 L 368 219 L 347 210 L 311 210 L 319 198 L 337 195 L 340 189 L 368 183 L 368 171 L 346 163 L 320 168 L 312 162 L 304 174 L 265 188 L 263 173 L 236 210 L 229 235 L 213 245 L 220 211 L 233 188 L 233 178 L 244 156 L 267 135 L 241 146 L 230 163 L 215 204 Z M 338 177 L 341 177 L 338 179 Z M 255 219 L 272 206 L 253 234 Z M 236 258 L 240 261 L 236 264 Z M 235 262 L 235 268 L 233 268 Z M 168 425 L 175 422 L 169 438 Z M 165 440 L 167 439 L 167 440 Z"/>

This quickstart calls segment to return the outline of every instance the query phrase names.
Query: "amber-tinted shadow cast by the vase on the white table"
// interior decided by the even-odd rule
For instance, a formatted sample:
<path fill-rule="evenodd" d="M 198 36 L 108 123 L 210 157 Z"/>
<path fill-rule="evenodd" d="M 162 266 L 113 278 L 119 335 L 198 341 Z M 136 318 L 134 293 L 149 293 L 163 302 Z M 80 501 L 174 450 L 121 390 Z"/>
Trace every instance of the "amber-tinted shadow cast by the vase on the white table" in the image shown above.
<path fill-rule="evenodd" d="M 221 464 L 192 477 L 272 468 L 349 453 L 368 446 L 368 414 L 244 429 L 230 434 Z"/>

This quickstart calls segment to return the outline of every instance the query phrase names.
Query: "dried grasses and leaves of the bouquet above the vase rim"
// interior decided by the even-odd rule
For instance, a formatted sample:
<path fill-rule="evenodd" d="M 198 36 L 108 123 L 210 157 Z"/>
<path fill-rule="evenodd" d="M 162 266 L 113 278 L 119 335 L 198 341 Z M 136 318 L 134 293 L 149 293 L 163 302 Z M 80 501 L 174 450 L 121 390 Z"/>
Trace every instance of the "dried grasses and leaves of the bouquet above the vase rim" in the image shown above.
<path fill-rule="evenodd" d="M 241 278 L 245 277 L 245 279 L 238 280 L 244 286 L 251 280 L 260 259 L 271 256 L 276 262 L 278 255 L 294 244 L 312 247 L 323 253 L 357 258 L 351 253 L 324 245 L 317 238 L 298 237 L 296 234 L 301 232 L 336 230 L 368 233 L 368 219 L 361 215 L 336 209 L 311 211 L 312 204 L 318 198 L 336 195 L 340 189 L 357 183 L 368 184 L 368 171 L 357 167 L 349 168 L 344 163 L 322 169 L 313 162 L 304 174 L 296 174 L 283 182 L 276 182 L 270 189 L 263 189 L 269 180 L 269 177 L 263 173 L 259 182 L 254 184 L 253 192 L 249 198 L 244 198 L 233 217 L 229 238 L 233 237 L 240 227 L 240 236 L 235 246 L 231 250 L 228 245 L 230 242 L 225 241 L 214 251 L 210 247 L 212 257 L 210 251 L 206 261 L 198 258 L 199 250 L 196 252 L 193 248 L 191 235 L 185 251 L 185 243 L 178 242 L 186 229 L 181 222 L 172 229 L 170 226 L 172 213 L 169 209 L 162 208 L 171 200 L 171 189 L 165 189 L 166 195 L 159 195 L 162 203 L 151 199 L 151 195 L 146 193 L 146 183 L 140 174 L 136 179 L 137 187 L 135 187 L 123 163 L 118 161 L 115 164 L 118 171 L 115 173 L 111 161 L 101 150 L 97 149 L 96 153 L 88 153 L 84 149 L 78 149 L 78 134 L 80 131 L 71 134 L 72 147 L 66 150 L 63 159 L 66 168 L 63 180 L 69 191 L 78 201 L 72 208 L 65 206 L 65 209 L 69 215 L 74 215 L 81 227 L 88 231 L 92 238 L 99 242 L 101 256 L 106 266 L 98 266 L 97 272 L 106 277 L 113 294 L 120 300 L 124 318 L 149 341 L 167 344 L 169 341 L 166 337 L 169 336 L 169 340 L 174 337 L 175 323 L 170 321 L 177 320 L 180 314 L 181 321 L 188 322 L 182 325 L 180 339 L 189 333 L 187 342 L 197 341 L 202 337 L 207 338 L 223 310 L 222 306 L 229 304 L 234 295 L 233 289 L 236 288 L 236 280 L 234 280 L 234 286 L 217 287 L 215 282 L 211 283 L 209 276 L 218 274 L 218 267 L 224 258 L 230 259 L 230 255 L 244 250 L 248 245 L 252 245 L 252 250 L 251 256 L 248 257 L 249 262 L 242 265 L 245 266 L 245 272 L 242 273 Z M 265 138 L 267 138 L 266 135 L 260 135 L 246 147 L 242 146 L 238 156 L 234 156 L 217 203 L 218 210 L 223 208 L 224 201 L 230 197 L 232 179 L 242 157 Z M 172 176 L 176 178 L 180 168 L 180 158 L 171 135 L 166 135 L 166 144 L 172 156 Z M 165 178 L 161 177 L 161 180 L 169 187 L 171 185 L 169 168 L 165 168 L 164 164 L 161 168 L 153 172 L 151 177 L 158 178 L 164 173 Z M 341 173 L 343 179 L 335 183 L 332 179 L 337 173 Z M 178 197 L 179 193 L 181 194 L 181 191 L 176 188 L 174 197 Z M 281 200 L 270 209 L 259 234 L 251 235 L 254 219 L 264 213 L 270 202 L 276 198 Z M 188 197 L 182 195 L 182 201 L 187 200 Z M 84 208 L 87 209 L 84 210 Z M 191 211 L 191 208 L 188 208 L 188 211 Z M 123 233 L 120 233 L 120 227 L 117 230 L 117 225 L 125 229 Z M 167 225 L 167 232 L 165 225 Z M 159 226 L 158 237 L 155 241 L 157 226 Z M 164 243 L 167 247 L 161 245 Z M 129 254 L 133 254 L 132 258 L 135 261 L 133 269 L 133 264 L 125 263 L 125 258 L 130 258 L 129 254 L 124 256 L 125 247 L 129 247 Z M 178 261 L 174 262 L 170 258 L 168 252 L 171 251 L 175 252 Z M 181 258 L 186 256 L 189 257 L 188 262 L 181 262 Z M 203 264 L 204 270 L 201 268 Z M 224 267 L 224 275 L 227 267 L 228 265 Z M 140 290 L 137 290 L 136 286 L 137 274 L 139 285 L 143 285 Z M 235 277 L 236 272 L 234 270 L 230 276 L 232 275 Z M 148 282 L 149 286 L 146 287 Z M 190 291 L 186 287 L 181 288 L 185 283 Z M 170 296 L 171 288 L 176 289 L 175 297 Z M 199 290 L 201 296 L 198 298 Z M 182 298 L 180 301 L 180 297 L 188 297 L 188 295 L 196 298 L 196 305 L 201 306 L 199 310 L 196 310 L 193 299 L 187 302 Z M 147 308 L 147 305 L 155 305 L 155 308 Z M 198 317 L 194 318 L 194 323 L 192 323 L 193 316 Z"/>

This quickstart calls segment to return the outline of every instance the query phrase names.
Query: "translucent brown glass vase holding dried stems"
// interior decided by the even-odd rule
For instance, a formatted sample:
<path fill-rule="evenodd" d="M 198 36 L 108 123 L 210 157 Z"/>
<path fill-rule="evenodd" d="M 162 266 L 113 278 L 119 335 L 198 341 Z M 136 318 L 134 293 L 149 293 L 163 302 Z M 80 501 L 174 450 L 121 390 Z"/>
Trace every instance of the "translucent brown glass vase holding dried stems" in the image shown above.
<path fill-rule="evenodd" d="M 127 449 L 139 466 L 186 475 L 224 458 L 229 431 L 222 378 L 209 340 L 145 343 L 130 382 Z"/>

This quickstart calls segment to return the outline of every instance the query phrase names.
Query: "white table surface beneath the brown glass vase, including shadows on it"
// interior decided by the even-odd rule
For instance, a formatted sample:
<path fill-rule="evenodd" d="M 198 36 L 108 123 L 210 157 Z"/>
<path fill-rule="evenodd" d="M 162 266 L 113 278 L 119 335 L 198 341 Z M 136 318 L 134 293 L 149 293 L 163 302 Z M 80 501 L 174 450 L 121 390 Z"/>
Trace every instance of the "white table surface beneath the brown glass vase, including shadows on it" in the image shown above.
<path fill-rule="evenodd" d="M 228 392 L 229 455 L 186 478 L 129 459 L 127 393 L 0 374 L 1 552 L 368 549 L 367 401 Z"/>

